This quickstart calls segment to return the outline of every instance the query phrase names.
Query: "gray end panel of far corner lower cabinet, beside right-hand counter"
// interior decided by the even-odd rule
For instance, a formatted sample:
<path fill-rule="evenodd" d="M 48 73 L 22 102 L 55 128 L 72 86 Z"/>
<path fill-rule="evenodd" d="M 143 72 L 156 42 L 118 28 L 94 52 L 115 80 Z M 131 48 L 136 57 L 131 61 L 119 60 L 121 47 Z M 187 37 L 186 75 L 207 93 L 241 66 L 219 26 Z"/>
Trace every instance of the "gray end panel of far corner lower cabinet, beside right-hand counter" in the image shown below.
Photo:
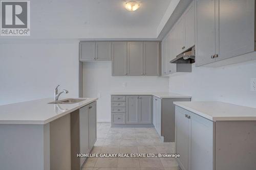
<path fill-rule="evenodd" d="M 162 99 L 162 136 L 164 142 L 175 141 L 175 105 L 174 102 L 187 102 L 190 98 Z"/>

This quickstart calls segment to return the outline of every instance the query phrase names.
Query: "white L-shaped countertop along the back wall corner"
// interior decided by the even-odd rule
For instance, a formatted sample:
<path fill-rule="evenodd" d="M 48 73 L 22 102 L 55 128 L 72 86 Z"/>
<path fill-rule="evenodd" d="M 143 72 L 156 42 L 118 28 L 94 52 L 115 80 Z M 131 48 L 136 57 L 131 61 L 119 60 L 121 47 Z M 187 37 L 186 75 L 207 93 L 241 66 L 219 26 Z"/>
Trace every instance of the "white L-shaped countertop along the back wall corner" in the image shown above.
<path fill-rule="evenodd" d="M 176 94 L 171 92 L 112 92 L 111 95 L 154 95 L 157 98 L 191 98 L 188 95 Z"/>

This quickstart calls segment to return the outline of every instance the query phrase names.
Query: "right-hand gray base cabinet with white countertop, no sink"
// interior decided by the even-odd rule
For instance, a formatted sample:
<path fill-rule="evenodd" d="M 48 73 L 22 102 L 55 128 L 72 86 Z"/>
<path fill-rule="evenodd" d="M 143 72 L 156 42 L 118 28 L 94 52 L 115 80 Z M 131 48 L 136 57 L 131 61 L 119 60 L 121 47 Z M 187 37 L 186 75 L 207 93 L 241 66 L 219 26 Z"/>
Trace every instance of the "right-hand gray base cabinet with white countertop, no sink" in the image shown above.
<path fill-rule="evenodd" d="M 182 170 L 256 169 L 256 108 L 223 102 L 174 102 Z"/>

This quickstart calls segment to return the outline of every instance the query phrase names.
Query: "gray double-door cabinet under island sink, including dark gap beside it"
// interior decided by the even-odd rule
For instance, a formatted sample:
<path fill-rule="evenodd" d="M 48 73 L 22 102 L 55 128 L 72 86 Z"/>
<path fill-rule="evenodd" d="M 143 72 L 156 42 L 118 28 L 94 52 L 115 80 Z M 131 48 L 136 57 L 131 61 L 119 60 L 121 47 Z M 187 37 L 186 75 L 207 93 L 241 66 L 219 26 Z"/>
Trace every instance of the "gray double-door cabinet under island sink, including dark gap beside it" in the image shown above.
<path fill-rule="evenodd" d="M 96 102 L 71 113 L 71 169 L 81 169 L 97 138 Z"/>

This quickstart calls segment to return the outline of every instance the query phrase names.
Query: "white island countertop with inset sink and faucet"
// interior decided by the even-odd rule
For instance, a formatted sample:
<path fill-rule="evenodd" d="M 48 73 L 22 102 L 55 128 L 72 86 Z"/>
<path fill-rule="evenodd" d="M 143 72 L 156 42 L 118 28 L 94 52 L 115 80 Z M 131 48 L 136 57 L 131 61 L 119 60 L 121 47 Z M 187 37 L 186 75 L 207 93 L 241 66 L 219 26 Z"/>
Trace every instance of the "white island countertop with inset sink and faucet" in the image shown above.
<path fill-rule="evenodd" d="M 0 124 L 47 124 L 61 116 L 86 106 L 97 98 L 86 99 L 74 104 L 48 104 L 52 98 L 20 102 L 0 106 Z"/>

